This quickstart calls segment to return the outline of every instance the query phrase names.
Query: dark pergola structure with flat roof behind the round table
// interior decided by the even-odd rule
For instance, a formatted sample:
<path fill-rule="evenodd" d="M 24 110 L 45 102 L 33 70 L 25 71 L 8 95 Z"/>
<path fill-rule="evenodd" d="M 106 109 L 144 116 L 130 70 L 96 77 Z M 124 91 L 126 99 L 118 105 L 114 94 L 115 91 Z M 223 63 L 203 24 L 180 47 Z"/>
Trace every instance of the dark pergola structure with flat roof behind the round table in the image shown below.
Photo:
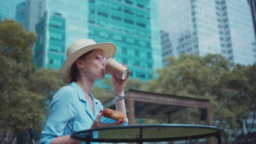
<path fill-rule="evenodd" d="M 179 97 L 175 95 L 157 94 L 128 90 L 125 105 L 129 124 L 135 124 L 135 118 L 158 118 L 158 114 L 165 114 L 171 123 L 171 114 L 181 108 L 200 108 L 204 110 L 207 125 L 212 125 L 210 118 L 210 100 L 201 98 Z M 115 99 L 103 103 L 104 108 L 115 109 Z M 209 144 L 213 144 L 213 139 Z"/>

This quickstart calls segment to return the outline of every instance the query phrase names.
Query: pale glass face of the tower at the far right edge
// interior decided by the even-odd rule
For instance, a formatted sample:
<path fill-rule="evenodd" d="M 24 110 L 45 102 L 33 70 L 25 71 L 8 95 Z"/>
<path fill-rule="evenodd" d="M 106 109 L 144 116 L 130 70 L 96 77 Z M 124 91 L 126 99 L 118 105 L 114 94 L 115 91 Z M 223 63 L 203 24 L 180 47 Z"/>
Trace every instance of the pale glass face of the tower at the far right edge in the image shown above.
<path fill-rule="evenodd" d="M 231 64 L 248 65 L 256 62 L 253 20 L 247 0 L 226 0 L 226 11 L 232 48 L 232 52 L 230 50 L 232 54 L 228 59 Z M 227 39 L 229 38 L 225 40 Z M 229 53 L 229 51 L 226 52 Z"/>

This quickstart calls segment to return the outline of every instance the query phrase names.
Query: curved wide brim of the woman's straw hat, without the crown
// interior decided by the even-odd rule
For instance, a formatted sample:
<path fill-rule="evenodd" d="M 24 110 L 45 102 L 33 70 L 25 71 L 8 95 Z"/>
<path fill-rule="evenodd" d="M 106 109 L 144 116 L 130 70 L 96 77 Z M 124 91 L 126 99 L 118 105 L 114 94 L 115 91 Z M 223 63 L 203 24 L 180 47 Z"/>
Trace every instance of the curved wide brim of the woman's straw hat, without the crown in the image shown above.
<path fill-rule="evenodd" d="M 112 58 L 116 52 L 116 46 L 113 43 L 96 43 L 90 46 L 85 46 L 78 51 L 72 53 L 62 64 L 60 69 L 60 77 L 63 82 L 69 84 L 71 82 L 71 67 L 73 63 L 86 52 L 94 49 L 101 49 L 106 59 Z"/>

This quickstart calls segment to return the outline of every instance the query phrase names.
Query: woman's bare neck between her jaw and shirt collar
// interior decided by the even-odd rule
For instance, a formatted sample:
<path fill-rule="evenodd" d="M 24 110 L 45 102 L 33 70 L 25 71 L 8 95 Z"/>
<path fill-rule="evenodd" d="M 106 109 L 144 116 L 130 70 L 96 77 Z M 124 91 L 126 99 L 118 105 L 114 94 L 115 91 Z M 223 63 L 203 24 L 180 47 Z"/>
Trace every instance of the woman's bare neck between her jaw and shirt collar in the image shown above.
<path fill-rule="evenodd" d="M 84 92 L 85 96 L 86 95 L 89 96 L 92 91 L 94 81 L 90 81 L 90 80 L 86 79 L 85 77 L 82 77 L 82 78 L 79 78 L 76 80 L 76 84 L 79 85 L 79 87 Z"/>

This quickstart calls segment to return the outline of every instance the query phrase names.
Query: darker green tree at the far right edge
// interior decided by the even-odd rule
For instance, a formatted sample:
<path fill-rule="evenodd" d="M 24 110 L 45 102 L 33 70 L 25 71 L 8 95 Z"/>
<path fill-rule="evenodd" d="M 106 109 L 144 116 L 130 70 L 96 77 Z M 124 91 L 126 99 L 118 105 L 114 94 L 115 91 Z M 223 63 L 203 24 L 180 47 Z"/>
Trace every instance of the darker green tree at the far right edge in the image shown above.
<path fill-rule="evenodd" d="M 231 74 L 225 75 L 226 87 L 232 89 L 230 101 L 227 106 L 236 114 L 236 121 L 239 124 L 240 131 L 243 131 L 243 123 L 246 126 L 246 134 L 243 134 L 244 142 L 252 142 L 255 137 L 252 129 L 254 122 L 249 126 L 247 119 L 252 115 L 253 121 L 256 116 L 256 64 L 243 66 L 235 65 Z M 223 78 L 224 79 L 224 78 Z M 234 105 L 235 104 L 235 105 Z M 241 138 L 238 138 L 241 139 Z"/>

